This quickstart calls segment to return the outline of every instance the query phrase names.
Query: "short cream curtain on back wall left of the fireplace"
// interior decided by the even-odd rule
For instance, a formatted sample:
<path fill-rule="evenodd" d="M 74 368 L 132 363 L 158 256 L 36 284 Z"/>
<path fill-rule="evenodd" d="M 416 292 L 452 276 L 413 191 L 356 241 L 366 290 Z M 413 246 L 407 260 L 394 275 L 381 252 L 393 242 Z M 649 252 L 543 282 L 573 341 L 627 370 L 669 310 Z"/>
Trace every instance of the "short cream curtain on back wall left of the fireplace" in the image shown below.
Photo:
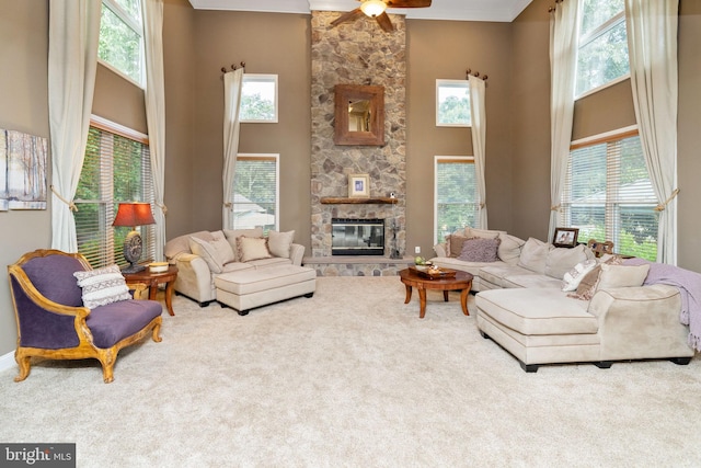
<path fill-rule="evenodd" d="M 223 229 L 233 229 L 233 178 L 239 152 L 239 110 L 243 72 L 243 68 L 238 68 L 223 75 Z"/>

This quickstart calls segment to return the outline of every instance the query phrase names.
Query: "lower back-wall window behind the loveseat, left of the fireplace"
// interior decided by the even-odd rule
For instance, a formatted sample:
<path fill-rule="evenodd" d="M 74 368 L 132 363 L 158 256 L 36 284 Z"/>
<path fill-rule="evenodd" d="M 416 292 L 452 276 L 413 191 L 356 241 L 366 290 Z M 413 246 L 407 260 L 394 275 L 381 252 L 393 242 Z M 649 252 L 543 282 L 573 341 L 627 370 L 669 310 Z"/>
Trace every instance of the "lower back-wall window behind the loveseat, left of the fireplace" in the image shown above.
<path fill-rule="evenodd" d="M 239 155 L 234 175 L 233 229 L 278 229 L 279 155 Z"/>

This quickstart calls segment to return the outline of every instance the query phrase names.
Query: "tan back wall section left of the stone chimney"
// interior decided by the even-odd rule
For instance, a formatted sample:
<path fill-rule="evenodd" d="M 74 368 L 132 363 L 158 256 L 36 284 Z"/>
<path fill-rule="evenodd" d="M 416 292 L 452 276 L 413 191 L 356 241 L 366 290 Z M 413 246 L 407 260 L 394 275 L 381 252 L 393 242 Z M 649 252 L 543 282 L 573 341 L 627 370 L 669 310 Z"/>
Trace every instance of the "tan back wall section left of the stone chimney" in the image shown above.
<path fill-rule="evenodd" d="M 241 124 L 239 152 L 280 155 L 280 230 L 310 251 L 310 16 L 197 11 L 193 170 L 196 229 L 221 229 L 223 83 L 221 67 L 277 73 L 279 122 Z M 264 32 L 264 34 L 262 34 Z"/>

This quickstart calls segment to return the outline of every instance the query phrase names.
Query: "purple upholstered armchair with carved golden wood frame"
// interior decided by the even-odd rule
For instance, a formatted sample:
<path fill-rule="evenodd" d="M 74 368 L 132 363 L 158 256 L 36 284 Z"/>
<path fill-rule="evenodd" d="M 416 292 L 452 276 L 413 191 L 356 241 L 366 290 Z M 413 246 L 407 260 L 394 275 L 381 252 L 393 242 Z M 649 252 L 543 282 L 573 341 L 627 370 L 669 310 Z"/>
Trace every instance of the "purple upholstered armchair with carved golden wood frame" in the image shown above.
<path fill-rule="evenodd" d="M 30 375 L 31 358 L 83 359 L 102 364 L 105 384 L 114 380 L 117 353 L 149 333 L 160 342 L 162 307 L 126 299 L 89 309 L 74 272 L 92 270 L 79 253 L 36 250 L 8 266 L 18 321 L 15 381 Z M 128 296 L 128 295 L 127 295 Z"/>

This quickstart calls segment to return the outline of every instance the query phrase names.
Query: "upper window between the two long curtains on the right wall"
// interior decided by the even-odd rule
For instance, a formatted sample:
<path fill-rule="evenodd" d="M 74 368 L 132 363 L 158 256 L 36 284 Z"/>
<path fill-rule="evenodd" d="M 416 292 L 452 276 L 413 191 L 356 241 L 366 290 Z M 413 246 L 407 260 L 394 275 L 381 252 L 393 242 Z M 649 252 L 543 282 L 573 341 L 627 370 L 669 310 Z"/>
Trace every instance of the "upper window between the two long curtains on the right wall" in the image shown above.
<path fill-rule="evenodd" d="M 581 0 L 575 95 L 630 73 L 624 0 Z"/>

